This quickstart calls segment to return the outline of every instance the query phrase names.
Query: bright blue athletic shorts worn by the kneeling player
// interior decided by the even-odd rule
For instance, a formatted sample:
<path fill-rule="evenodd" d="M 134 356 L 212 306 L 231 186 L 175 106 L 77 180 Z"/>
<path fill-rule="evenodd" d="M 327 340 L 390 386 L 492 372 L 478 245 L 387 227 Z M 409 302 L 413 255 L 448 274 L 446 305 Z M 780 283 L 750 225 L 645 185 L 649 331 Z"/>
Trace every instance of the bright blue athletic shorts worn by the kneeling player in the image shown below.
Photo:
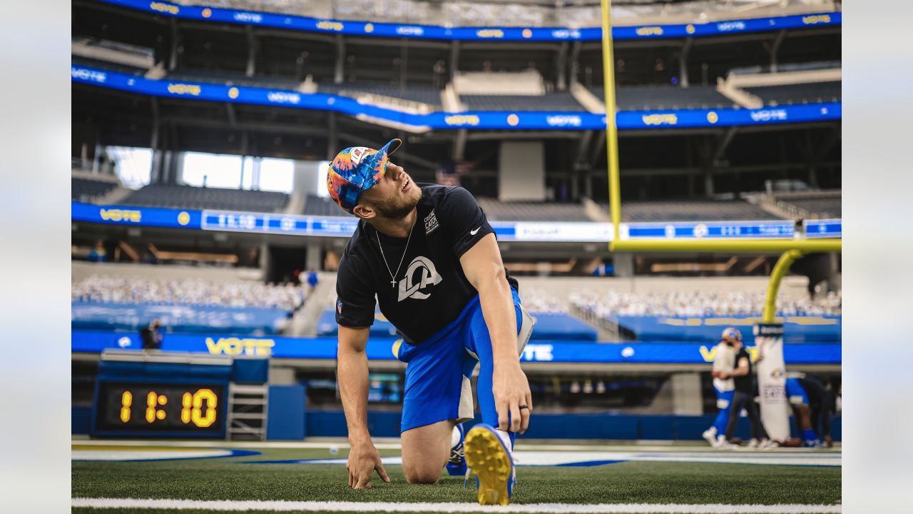
<path fill-rule="evenodd" d="M 519 354 L 530 339 L 535 320 L 520 305 L 519 294 L 513 288 L 510 291 L 517 316 Z M 479 362 L 482 366 L 477 394 L 482 421 L 498 425 L 498 412 L 491 392 L 491 337 L 478 296 L 463 308 L 456 320 L 421 344 L 413 346 L 397 341 L 394 355 L 408 363 L 401 432 L 445 420 L 463 423 L 473 419 L 470 377 Z"/>

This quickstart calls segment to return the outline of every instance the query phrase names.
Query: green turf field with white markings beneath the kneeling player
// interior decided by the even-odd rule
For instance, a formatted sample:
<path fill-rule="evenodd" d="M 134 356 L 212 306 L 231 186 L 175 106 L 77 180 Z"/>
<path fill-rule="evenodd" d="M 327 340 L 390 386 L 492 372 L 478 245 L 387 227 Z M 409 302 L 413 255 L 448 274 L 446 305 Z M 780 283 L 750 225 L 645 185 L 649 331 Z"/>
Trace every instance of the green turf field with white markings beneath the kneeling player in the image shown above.
<path fill-rule="evenodd" d="M 391 441 L 378 446 L 385 460 L 396 462 L 398 444 Z M 337 449 L 335 455 L 331 454 L 331 447 Z M 520 452 L 524 447 L 529 450 Z M 392 483 L 385 484 L 376 478 L 371 490 L 356 491 L 346 483 L 344 466 L 314 462 L 346 455 L 347 444 L 342 441 L 172 444 L 74 440 L 73 512 L 151 514 L 174 509 L 201 513 L 226 510 L 482 512 L 492 509 L 475 503 L 474 484 L 470 482 L 464 488 L 462 477 L 444 475 L 435 486 L 410 486 L 405 483 L 402 466 L 388 464 Z M 592 460 L 593 455 L 624 458 Z M 509 509 L 498 510 L 839 512 L 839 455 L 839 450 L 711 451 L 697 444 L 523 442 L 518 444 L 520 462 L 514 503 Z M 124 458 L 130 460 L 119 460 Z M 168 460 L 152 460 L 158 458 Z M 582 459 L 589 464 L 533 466 L 542 458 L 555 462 Z M 727 462 L 732 459 L 748 459 L 746 462 L 751 464 Z M 792 465 L 776 464 L 780 462 Z M 253 503 L 257 501 L 274 503 Z"/>

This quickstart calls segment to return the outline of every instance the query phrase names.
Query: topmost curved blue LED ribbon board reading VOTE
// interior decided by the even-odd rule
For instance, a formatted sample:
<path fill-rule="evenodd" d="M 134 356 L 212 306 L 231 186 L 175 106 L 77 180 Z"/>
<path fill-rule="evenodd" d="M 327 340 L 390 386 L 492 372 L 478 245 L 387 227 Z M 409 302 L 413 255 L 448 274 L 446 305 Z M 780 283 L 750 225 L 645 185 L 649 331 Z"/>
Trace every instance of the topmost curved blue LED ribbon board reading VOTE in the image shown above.
<path fill-rule="evenodd" d="M 202 5 L 177 5 L 149 0 L 100 0 L 159 16 L 196 21 L 211 21 L 257 27 L 284 28 L 305 32 L 344 34 L 361 37 L 404 37 L 454 41 L 598 41 L 601 27 L 442 27 L 435 25 L 399 25 L 355 20 L 321 19 L 257 11 L 239 11 Z M 615 40 L 657 39 L 667 37 L 705 37 L 725 34 L 766 32 L 789 28 L 834 27 L 843 22 L 843 14 L 812 13 L 807 15 L 734 19 L 711 23 L 613 27 Z"/>

